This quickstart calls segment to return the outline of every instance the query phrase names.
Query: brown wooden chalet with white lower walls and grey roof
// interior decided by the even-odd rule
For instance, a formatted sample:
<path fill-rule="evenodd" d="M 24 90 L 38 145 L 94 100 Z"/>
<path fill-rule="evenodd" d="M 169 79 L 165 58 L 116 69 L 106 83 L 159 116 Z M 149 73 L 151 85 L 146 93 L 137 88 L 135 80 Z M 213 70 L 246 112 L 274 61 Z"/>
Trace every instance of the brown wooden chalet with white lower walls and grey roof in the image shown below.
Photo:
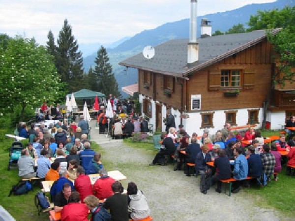
<path fill-rule="evenodd" d="M 266 31 L 206 36 L 193 47 L 191 38 L 170 40 L 152 58 L 138 54 L 119 63 L 138 69 L 142 111 L 154 130 L 165 131 L 167 109 L 189 134 L 213 134 L 225 123 L 259 128 L 263 119 L 281 129 L 295 115 L 295 85 L 272 83 L 278 64 Z M 198 54 L 190 61 L 192 48 Z"/>

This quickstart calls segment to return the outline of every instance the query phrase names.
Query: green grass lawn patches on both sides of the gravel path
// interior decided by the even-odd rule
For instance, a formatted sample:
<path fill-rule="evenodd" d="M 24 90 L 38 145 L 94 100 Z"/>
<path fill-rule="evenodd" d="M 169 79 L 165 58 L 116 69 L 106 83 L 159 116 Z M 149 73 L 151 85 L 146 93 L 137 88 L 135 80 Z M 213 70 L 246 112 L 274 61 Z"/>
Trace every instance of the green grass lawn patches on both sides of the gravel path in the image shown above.
<path fill-rule="evenodd" d="M 263 136 L 278 135 L 277 132 L 263 131 Z M 17 221 L 43 221 L 48 220 L 48 213 L 43 213 L 38 217 L 37 209 L 34 205 L 34 196 L 37 191 L 40 191 L 38 185 L 34 186 L 34 191 L 25 195 L 10 196 L 7 197 L 12 185 L 18 183 L 18 169 L 7 170 L 9 155 L 8 148 L 11 146 L 13 140 L 11 138 L 0 139 L 0 205 L 2 205 Z M 26 141 L 27 142 L 27 141 Z M 124 140 L 127 145 L 133 148 L 144 148 L 147 150 L 146 154 L 154 156 L 157 152 L 152 143 L 144 142 L 131 142 Z M 95 143 L 92 143 L 91 148 L 95 151 L 100 151 L 102 154 L 102 161 L 104 166 L 109 170 L 114 169 L 112 162 L 103 159 L 104 151 L 99 148 Z M 133 169 L 134 166 L 130 166 Z M 279 180 L 277 182 L 271 182 L 265 188 L 251 187 L 249 190 L 245 190 L 249 193 L 249 197 L 255 200 L 258 206 L 273 207 L 286 215 L 291 215 L 294 206 L 295 195 L 295 177 L 285 176 L 285 166 L 283 171 L 278 175 Z M 48 194 L 48 193 L 47 193 Z"/>

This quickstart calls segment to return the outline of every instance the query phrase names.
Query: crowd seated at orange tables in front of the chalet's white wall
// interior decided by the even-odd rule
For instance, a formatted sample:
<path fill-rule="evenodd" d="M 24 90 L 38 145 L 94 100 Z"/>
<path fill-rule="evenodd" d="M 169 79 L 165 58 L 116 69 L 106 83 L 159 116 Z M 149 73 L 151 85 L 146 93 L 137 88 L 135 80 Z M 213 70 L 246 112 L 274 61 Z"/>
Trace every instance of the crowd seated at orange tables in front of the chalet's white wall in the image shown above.
<path fill-rule="evenodd" d="M 221 180 L 231 177 L 236 179 L 232 193 L 238 193 L 241 186 L 249 187 L 253 182 L 262 184 L 264 178 L 266 182 L 271 179 L 277 181 L 282 164 L 287 164 L 287 175 L 291 174 L 290 166 L 295 166 L 295 136 L 287 142 L 285 135 L 281 135 L 269 145 L 264 143 L 261 132 L 253 127 L 242 136 L 240 132 L 233 133 L 228 123 L 214 135 L 205 129 L 200 137 L 196 133 L 189 136 L 183 125 L 179 125 L 178 130 L 175 128 L 174 116 L 171 111 L 167 113 L 167 134 L 162 134 L 162 146 L 149 166 L 165 166 L 172 157 L 177 161 L 174 170 L 183 169 L 187 176 L 191 176 L 187 164 L 194 164 L 196 175 L 201 175 L 201 193 L 207 194 L 215 183 L 216 192 L 221 193 Z M 250 140 L 251 145 L 245 145 L 242 140 Z M 286 150 L 289 154 L 281 156 L 279 151 Z M 207 164 L 212 161 L 213 166 Z M 253 179 L 249 181 L 247 177 Z"/>

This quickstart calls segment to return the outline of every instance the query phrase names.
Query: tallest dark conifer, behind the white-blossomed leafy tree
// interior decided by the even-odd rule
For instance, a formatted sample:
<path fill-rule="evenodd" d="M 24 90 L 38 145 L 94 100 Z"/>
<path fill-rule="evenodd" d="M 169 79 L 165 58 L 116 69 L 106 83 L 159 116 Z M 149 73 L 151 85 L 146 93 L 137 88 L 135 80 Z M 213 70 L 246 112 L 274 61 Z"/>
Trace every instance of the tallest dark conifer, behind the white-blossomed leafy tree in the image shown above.
<path fill-rule="evenodd" d="M 72 27 L 64 20 L 63 27 L 59 31 L 57 48 L 57 68 L 62 82 L 68 84 L 69 92 L 83 88 L 83 57 L 78 51 L 79 45 L 72 35 Z"/>

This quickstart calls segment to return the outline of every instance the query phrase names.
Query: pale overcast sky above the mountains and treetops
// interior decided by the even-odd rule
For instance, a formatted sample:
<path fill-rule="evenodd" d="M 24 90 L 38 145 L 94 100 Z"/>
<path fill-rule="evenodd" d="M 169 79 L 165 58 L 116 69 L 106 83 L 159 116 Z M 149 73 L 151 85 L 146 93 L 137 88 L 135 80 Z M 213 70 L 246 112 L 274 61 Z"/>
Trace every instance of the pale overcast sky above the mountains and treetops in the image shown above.
<path fill-rule="evenodd" d="M 198 15 L 275 0 L 198 0 Z M 190 0 L 0 0 L 0 33 L 58 37 L 64 19 L 78 43 L 111 43 L 145 29 L 190 17 Z"/>

